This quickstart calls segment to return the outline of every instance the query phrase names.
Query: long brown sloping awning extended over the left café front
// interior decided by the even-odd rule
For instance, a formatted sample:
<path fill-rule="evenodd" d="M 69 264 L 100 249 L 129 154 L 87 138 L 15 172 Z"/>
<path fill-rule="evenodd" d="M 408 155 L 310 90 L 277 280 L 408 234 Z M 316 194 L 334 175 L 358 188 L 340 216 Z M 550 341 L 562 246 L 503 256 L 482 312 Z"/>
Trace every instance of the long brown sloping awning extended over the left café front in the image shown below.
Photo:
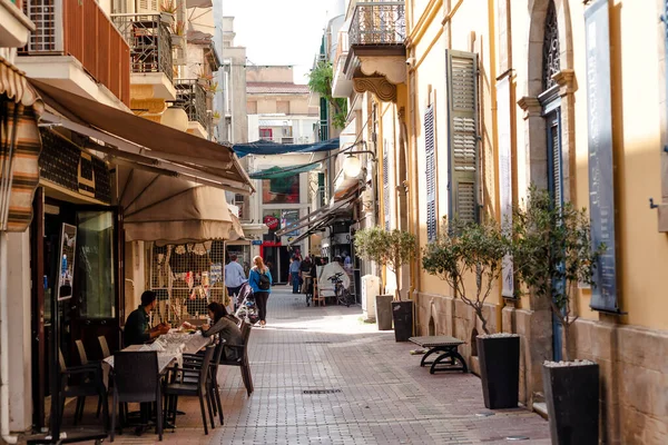
<path fill-rule="evenodd" d="M 136 168 L 239 194 L 254 191 L 250 178 L 226 146 L 137 117 L 30 79 L 46 105 L 63 117 L 45 112 L 41 120 L 106 142 L 96 149 Z"/>

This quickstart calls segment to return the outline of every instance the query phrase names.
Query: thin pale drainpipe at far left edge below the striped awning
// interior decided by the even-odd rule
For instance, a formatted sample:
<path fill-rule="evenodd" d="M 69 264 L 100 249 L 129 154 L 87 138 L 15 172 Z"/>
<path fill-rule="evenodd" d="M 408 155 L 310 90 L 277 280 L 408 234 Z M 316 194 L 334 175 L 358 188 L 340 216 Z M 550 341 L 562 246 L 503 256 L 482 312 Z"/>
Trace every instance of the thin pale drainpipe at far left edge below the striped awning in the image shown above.
<path fill-rule="evenodd" d="M 9 297 L 7 260 L 7 233 L 0 231 L 0 431 L 2 441 L 16 444 L 17 436 L 9 432 L 9 329 L 8 329 L 8 305 Z"/>

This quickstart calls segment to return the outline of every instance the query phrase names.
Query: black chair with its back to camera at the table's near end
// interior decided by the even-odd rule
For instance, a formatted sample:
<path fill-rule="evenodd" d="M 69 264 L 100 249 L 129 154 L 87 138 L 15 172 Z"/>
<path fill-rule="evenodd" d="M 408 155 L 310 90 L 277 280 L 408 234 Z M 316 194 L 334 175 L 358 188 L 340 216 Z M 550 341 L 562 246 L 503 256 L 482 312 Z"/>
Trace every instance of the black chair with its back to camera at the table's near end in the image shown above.
<path fill-rule="evenodd" d="M 118 352 L 114 354 L 111 442 L 114 442 L 116 433 L 116 409 L 119 404 L 127 403 L 156 404 L 156 429 L 158 438 L 163 441 L 160 377 L 157 352 Z M 120 434 L 122 434 L 122 422 L 121 418 Z"/>

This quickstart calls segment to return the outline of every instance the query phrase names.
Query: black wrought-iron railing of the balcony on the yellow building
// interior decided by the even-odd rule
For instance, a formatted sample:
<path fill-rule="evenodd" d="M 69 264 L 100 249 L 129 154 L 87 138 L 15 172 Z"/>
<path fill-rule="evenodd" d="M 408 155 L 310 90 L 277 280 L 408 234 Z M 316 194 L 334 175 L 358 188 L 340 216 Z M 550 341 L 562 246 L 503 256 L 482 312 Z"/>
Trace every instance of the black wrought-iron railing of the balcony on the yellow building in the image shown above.
<path fill-rule="evenodd" d="M 401 46 L 405 37 L 404 1 L 361 2 L 355 7 L 348 31 L 351 46 Z"/>

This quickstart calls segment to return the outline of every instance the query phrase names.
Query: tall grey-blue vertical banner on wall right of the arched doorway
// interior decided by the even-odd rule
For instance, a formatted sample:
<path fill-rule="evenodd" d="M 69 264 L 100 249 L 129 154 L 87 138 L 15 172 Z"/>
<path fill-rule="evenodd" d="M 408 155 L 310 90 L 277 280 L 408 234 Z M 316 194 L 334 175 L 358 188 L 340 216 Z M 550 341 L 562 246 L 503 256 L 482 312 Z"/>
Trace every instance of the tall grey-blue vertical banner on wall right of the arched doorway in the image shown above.
<path fill-rule="evenodd" d="M 607 246 L 593 276 L 590 305 L 592 309 L 618 313 L 608 12 L 608 0 L 593 2 L 584 12 L 591 243 L 595 248 L 601 243 Z"/>

